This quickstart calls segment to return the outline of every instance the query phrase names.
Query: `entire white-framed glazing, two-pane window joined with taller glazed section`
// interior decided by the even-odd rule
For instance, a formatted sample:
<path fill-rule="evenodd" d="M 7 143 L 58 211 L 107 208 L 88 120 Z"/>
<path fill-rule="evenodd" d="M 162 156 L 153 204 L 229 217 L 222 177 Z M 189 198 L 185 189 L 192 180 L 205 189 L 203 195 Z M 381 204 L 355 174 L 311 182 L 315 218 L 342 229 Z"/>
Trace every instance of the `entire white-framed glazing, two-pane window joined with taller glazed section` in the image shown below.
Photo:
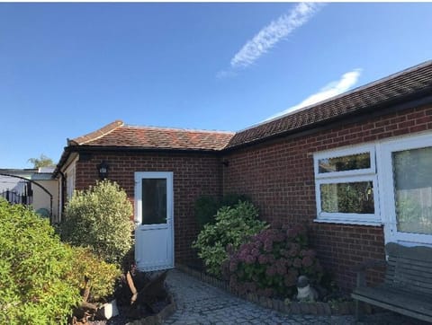
<path fill-rule="evenodd" d="M 384 225 L 385 242 L 432 245 L 432 133 L 314 154 L 316 222 Z"/>

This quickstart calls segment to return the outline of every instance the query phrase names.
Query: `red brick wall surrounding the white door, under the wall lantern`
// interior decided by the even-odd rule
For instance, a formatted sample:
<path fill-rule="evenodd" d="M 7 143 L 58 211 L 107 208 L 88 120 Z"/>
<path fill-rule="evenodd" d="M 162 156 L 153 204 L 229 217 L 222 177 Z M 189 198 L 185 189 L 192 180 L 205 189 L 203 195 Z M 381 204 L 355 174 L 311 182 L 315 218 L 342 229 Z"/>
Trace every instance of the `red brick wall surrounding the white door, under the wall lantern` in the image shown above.
<path fill-rule="evenodd" d="M 76 163 L 76 189 L 94 185 L 103 160 L 109 165 L 108 178 L 126 190 L 132 204 L 135 171 L 174 172 L 175 261 L 193 259 L 191 244 L 198 232 L 193 204 L 202 194 L 221 194 L 220 160 L 211 154 L 92 154 L 91 160 Z"/>

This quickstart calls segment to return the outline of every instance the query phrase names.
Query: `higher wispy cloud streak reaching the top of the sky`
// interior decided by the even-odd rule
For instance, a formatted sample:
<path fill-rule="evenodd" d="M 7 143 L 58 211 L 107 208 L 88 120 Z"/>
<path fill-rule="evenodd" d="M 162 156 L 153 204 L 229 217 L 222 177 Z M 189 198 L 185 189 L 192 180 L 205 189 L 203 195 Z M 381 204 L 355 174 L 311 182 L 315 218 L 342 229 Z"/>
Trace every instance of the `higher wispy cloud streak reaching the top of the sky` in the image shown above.
<path fill-rule="evenodd" d="M 248 40 L 243 48 L 231 58 L 230 66 L 238 68 L 252 65 L 259 57 L 273 48 L 277 42 L 308 22 L 320 10 L 321 6 L 320 3 L 300 3 L 295 5 L 290 13 L 270 22 L 269 25 L 258 31 L 252 40 Z"/>

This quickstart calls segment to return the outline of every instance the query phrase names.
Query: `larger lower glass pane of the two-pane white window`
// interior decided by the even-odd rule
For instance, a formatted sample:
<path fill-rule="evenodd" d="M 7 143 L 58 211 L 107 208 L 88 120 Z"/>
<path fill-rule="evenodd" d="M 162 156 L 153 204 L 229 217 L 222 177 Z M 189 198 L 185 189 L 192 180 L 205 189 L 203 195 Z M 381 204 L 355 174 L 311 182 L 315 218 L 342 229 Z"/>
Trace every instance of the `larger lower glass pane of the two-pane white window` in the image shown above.
<path fill-rule="evenodd" d="M 322 212 L 374 214 L 372 180 L 320 184 L 320 193 Z"/>

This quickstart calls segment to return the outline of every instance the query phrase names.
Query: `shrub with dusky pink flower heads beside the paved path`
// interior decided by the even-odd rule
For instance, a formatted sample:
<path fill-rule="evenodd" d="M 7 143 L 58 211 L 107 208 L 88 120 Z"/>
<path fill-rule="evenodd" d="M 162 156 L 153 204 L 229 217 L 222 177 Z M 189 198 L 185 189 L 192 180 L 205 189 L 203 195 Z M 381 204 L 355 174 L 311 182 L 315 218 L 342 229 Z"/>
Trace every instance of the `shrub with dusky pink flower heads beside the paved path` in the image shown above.
<path fill-rule="evenodd" d="M 240 294 L 290 297 L 296 293 L 299 276 L 307 276 L 312 284 L 320 282 L 322 268 L 315 250 L 308 245 L 302 226 L 291 229 L 265 229 L 229 251 L 224 263 L 224 276 Z"/>

